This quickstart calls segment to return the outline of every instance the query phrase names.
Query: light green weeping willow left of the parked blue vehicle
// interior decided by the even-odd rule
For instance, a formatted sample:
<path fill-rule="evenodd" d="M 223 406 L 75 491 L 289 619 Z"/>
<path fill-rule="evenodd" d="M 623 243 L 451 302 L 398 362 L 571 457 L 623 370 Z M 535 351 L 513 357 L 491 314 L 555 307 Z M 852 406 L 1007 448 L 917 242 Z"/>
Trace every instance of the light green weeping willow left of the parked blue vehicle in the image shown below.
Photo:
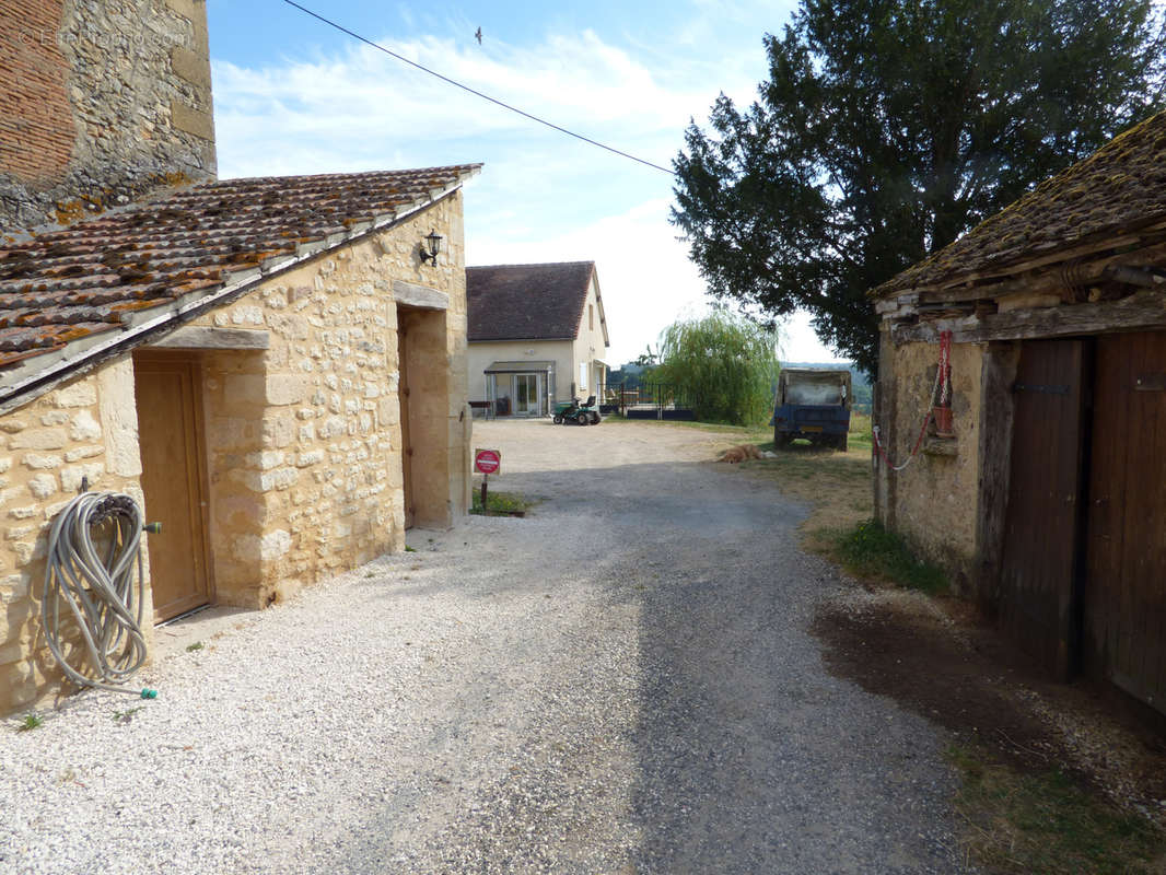
<path fill-rule="evenodd" d="M 684 393 L 696 419 L 745 426 L 768 419 L 778 370 L 778 332 L 718 308 L 665 329 L 653 378 Z"/>

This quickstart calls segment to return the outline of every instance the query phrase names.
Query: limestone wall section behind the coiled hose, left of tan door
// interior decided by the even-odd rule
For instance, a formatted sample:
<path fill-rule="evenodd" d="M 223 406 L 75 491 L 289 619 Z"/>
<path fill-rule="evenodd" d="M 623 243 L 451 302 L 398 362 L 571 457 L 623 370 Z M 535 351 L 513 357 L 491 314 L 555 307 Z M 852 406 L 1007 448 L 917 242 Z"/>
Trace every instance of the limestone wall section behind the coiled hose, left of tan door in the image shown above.
<path fill-rule="evenodd" d="M 77 495 L 83 477 L 89 477 L 93 490 L 125 492 L 142 503 L 140 474 L 128 356 L 0 419 L 0 607 L 5 618 L 0 625 L 0 714 L 35 701 L 61 678 L 44 646 L 41 623 L 44 556 L 54 517 Z M 148 590 L 145 616 L 153 617 Z"/>

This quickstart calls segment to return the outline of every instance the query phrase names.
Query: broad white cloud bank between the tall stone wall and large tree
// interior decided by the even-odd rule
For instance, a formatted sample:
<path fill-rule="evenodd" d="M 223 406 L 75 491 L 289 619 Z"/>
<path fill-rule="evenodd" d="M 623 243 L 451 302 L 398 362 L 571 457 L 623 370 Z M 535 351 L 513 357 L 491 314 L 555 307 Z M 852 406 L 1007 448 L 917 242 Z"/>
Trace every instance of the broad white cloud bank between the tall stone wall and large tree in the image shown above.
<path fill-rule="evenodd" d="M 740 30 L 728 47 L 714 40 L 716 22 L 683 22 L 673 36 L 627 40 L 628 48 L 586 29 L 547 34 L 531 46 L 490 34 L 479 47 L 466 42 L 466 27 L 447 22 L 440 35 L 381 44 L 665 167 L 683 145 L 689 118 L 704 119 L 717 91 L 749 99 L 765 75 L 760 30 Z M 677 50 L 677 38 L 690 43 Z M 367 46 L 255 66 L 216 60 L 213 74 L 224 177 L 484 161 L 465 198 L 470 264 L 595 260 L 613 363 L 635 358 L 667 324 L 705 306 L 704 284 L 667 220 L 673 181 L 659 170 Z M 799 324 L 794 332 L 807 329 Z"/>

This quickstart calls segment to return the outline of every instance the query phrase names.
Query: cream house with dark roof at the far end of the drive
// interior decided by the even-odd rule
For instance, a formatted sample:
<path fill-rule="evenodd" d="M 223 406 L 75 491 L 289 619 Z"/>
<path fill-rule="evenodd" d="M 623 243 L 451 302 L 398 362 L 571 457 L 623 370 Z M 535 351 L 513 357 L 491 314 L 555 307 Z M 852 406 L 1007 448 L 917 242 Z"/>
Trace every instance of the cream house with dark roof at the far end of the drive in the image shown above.
<path fill-rule="evenodd" d="M 611 341 L 593 261 L 468 267 L 465 284 L 477 412 L 545 416 L 602 397 Z"/>

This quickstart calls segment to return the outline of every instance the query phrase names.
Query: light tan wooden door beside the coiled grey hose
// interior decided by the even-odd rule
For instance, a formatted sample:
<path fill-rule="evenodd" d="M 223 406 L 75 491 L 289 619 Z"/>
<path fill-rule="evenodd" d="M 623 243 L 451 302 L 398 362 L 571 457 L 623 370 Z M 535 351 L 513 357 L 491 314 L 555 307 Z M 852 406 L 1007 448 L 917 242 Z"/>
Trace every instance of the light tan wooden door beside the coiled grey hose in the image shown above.
<path fill-rule="evenodd" d="M 198 363 L 174 355 L 134 355 L 134 388 L 154 620 L 162 622 L 211 601 Z"/>

